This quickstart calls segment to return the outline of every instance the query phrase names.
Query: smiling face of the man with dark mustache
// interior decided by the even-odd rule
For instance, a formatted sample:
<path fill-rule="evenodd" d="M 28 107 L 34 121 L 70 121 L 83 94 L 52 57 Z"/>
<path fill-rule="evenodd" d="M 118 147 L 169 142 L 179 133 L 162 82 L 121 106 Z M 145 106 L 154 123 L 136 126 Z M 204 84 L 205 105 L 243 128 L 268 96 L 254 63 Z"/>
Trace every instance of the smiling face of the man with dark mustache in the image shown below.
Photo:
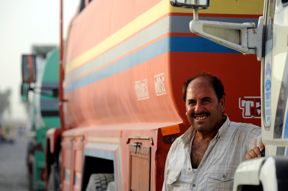
<path fill-rule="evenodd" d="M 186 92 L 186 115 L 198 132 L 212 132 L 222 125 L 226 97 L 219 100 L 212 84 L 205 78 L 196 78 L 188 84 Z"/>

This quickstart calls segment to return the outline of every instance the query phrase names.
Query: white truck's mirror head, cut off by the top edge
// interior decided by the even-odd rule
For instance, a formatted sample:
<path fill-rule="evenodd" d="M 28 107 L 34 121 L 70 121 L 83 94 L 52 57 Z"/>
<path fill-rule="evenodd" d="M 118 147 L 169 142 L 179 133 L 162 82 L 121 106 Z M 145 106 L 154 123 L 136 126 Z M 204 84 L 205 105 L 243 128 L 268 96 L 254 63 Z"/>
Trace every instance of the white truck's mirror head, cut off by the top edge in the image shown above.
<path fill-rule="evenodd" d="M 207 9 L 210 6 L 210 0 L 170 0 L 174 7 L 183 7 L 188 9 Z"/>

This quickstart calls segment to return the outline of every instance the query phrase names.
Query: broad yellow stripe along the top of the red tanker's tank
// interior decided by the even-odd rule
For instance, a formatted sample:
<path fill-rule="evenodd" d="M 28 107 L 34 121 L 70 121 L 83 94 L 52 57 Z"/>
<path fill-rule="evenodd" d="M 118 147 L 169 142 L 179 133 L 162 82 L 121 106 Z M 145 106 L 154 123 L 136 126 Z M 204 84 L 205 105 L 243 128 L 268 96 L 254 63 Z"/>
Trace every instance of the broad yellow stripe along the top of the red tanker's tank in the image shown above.
<path fill-rule="evenodd" d="M 221 14 L 263 14 L 263 4 L 264 0 L 238 0 L 238 1 L 229 1 L 229 4 L 226 0 L 211 0 L 210 7 L 205 10 L 199 10 L 199 13 L 221 13 Z M 109 50 L 111 47 L 117 45 L 124 39 L 128 38 L 132 34 L 141 30 L 145 26 L 151 24 L 156 19 L 170 12 L 179 12 L 179 13 L 192 13 L 192 9 L 178 8 L 170 5 L 169 0 L 162 0 L 160 3 L 128 23 L 126 26 L 104 39 L 102 42 L 98 43 L 82 55 L 79 55 L 77 58 L 72 60 L 69 64 L 66 65 L 65 72 L 69 73 L 71 70 L 75 69 L 88 62 L 92 58 L 97 57 L 101 53 Z"/>

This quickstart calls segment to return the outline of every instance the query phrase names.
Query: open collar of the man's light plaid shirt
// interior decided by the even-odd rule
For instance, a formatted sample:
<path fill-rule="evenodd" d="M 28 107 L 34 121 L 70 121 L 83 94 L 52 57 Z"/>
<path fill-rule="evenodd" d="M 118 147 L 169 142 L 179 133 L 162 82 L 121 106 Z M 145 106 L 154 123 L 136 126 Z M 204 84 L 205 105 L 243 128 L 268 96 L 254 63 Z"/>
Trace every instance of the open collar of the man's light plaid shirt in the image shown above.
<path fill-rule="evenodd" d="M 218 130 L 218 134 L 216 136 L 217 140 L 221 137 L 221 135 L 226 131 L 226 129 L 229 127 L 230 121 L 229 117 L 226 114 L 223 114 L 223 119 L 225 120 L 224 124 L 220 127 Z M 192 137 L 195 135 L 196 130 L 191 126 L 182 136 L 182 142 L 183 144 L 189 143 L 192 139 Z"/>

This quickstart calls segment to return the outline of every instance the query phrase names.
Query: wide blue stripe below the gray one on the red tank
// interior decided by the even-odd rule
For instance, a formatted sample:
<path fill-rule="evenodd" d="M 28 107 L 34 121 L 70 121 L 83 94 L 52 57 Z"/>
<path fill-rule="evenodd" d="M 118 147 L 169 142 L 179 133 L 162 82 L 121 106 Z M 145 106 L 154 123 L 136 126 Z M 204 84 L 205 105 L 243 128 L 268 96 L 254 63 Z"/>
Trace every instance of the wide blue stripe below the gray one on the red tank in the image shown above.
<path fill-rule="evenodd" d="M 82 86 L 113 76 L 166 52 L 240 53 L 202 37 L 167 36 L 101 70 L 67 84 L 65 86 L 65 92 L 70 92 Z"/>

